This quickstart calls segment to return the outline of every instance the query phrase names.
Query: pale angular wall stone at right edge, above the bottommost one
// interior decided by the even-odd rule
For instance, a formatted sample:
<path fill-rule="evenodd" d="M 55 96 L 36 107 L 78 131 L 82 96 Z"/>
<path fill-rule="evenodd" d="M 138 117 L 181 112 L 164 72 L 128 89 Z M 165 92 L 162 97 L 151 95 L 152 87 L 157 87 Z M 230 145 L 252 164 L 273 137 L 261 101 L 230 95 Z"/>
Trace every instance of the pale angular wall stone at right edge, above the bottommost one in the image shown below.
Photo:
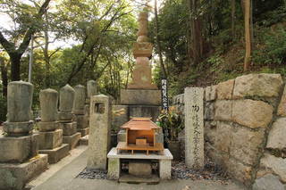
<path fill-rule="evenodd" d="M 266 171 L 273 171 L 283 183 L 286 183 L 286 159 L 277 158 L 269 153 L 265 153 L 265 157 L 260 161 L 260 167 Z"/>

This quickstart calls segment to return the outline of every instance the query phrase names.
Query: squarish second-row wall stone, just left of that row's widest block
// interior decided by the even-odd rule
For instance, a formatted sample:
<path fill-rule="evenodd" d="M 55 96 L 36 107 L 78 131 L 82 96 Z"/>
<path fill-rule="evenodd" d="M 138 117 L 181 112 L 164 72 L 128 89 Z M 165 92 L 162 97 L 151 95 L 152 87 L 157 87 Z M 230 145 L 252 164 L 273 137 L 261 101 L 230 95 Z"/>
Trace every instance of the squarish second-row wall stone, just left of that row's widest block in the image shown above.
<path fill-rule="evenodd" d="M 232 101 L 215 101 L 214 111 L 214 120 L 231 120 Z"/>

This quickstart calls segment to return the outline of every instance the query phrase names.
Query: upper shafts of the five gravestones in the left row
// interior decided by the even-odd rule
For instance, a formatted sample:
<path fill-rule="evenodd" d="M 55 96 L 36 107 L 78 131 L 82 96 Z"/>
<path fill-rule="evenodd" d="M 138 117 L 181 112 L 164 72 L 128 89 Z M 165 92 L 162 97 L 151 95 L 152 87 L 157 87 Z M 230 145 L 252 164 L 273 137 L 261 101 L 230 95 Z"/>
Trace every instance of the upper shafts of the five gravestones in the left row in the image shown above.
<path fill-rule="evenodd" d="M 42 90 L 39 94 L 41 105 L 40 130 L 53 130 L 51 122 L 56 120 L 71 120 L 72 113 L 83 114 L 86 102 L 85 87 L 76 86 L 75 89 L 66 85 L 60 90 L 60 112 L 57 112 L 58 93 L 53 89 Z M 88 81 L 88 97 L 97 94 L 97 84 Z M 7 121 L 4 122 L 4 132 L 8 136 L 25 136 L 33 129 L 31 120 L 31 104 L 33 85 L 23 81 L 13 81 L 8 85 Z"/>

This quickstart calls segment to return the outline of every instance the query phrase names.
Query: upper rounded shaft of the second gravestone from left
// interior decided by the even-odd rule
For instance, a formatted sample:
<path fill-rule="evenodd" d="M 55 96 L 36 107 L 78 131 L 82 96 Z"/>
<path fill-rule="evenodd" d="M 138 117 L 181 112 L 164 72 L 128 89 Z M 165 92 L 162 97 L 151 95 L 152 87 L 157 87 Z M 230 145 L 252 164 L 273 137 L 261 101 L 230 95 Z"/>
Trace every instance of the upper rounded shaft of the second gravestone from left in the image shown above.
<path fill-rule="evenodd" d="M 51 88 L 39 92 L 41 106 L 41 121 L 55 121 L 58 119 L 57 103 L 58 93 Z"/>

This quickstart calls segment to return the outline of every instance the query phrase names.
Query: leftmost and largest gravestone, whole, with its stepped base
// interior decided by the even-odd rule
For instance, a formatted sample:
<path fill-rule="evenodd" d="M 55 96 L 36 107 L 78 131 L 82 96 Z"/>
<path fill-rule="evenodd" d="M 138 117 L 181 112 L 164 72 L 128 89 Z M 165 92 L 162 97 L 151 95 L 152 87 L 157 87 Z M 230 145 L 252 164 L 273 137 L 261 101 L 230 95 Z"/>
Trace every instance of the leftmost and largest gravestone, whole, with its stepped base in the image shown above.
<path fill-rule="evenodd" d="M 33 86 L 14 81 L 8 85 L 5 135 L 0 134 L 0 189 L 22 189 L 47 167 L 47 155 L 38 154 L 38 135 L 32 134 Z"/>

